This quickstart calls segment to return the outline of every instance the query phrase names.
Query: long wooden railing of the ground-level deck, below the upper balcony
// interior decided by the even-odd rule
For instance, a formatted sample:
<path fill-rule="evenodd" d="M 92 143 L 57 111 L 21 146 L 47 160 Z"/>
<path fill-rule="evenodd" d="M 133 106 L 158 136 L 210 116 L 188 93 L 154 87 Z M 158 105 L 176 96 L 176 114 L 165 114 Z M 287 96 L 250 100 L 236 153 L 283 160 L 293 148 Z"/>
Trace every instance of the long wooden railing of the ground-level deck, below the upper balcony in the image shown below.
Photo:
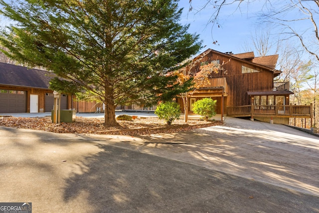
<path fill-rule="evenodd" d="M 311 105 L 246 105 L 227 107 L 228 116 L 313 117 Z"/>

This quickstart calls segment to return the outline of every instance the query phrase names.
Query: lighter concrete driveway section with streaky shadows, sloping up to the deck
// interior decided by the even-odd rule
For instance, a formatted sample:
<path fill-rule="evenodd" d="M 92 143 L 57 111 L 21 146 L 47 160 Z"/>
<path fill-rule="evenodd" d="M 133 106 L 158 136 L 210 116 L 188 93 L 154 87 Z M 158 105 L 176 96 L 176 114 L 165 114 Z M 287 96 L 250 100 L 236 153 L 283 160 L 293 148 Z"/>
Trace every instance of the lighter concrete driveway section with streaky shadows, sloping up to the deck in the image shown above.
<path fill-rule="evenodd" d="M 319 180 L 314 178 L 319 140 L 289 127 L 222 125 L 140 138 L 146 141 L 137 145 L 141 152 L 319 196 Z"/>

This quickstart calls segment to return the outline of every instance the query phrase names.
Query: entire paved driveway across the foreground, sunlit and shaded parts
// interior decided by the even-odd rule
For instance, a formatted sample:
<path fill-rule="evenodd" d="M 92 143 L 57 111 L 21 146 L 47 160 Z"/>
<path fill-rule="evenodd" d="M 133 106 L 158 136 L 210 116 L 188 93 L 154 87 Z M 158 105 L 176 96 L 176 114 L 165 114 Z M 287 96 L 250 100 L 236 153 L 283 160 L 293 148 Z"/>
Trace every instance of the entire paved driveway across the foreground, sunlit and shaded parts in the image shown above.
<path fill-rule="evenodd" d="M 0 127 L 0 202 L 36 212 L 319 212 L 319 140 L 278 124 L 149 136 Z"/>

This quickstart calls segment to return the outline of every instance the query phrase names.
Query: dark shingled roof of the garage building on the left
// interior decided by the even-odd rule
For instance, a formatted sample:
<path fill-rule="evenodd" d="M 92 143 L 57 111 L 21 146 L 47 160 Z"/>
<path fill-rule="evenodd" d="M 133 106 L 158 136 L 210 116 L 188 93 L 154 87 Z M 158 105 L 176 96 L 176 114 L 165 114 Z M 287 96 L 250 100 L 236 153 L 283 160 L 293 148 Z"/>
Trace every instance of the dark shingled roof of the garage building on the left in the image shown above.
<path fill-rule="evenodd" d="M 0 63 L 1 85 L 48 89 L 50 80 L 55 76 L 48 71 Z"/>

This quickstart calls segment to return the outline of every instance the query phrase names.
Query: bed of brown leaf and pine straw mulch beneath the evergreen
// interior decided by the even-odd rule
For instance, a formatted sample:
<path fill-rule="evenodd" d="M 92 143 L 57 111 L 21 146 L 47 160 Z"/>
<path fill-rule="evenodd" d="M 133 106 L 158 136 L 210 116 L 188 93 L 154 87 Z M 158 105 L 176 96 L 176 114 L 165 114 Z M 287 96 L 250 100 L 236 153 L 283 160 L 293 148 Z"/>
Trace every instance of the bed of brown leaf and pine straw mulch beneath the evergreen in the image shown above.
<path fill-rule="evenodd" d="M 172 133 L 188 131 L 196 128 L 220 125 L 222 121 L 203 121 L 188 119 L 185 124 L 182 119 L 174 120 L 166 125 L 158 117 L 138 117 L 132 121 L 118 120 L 119 126 L 106 127 L 104 118 L 76 117 L 73 123 L 52 123 L 51 117 L 0 117 L 0 126 L 49 131 L 55 133 L 80 134 L 122 134 L 122 135 L 149 135 L 157 133 Z"/>

